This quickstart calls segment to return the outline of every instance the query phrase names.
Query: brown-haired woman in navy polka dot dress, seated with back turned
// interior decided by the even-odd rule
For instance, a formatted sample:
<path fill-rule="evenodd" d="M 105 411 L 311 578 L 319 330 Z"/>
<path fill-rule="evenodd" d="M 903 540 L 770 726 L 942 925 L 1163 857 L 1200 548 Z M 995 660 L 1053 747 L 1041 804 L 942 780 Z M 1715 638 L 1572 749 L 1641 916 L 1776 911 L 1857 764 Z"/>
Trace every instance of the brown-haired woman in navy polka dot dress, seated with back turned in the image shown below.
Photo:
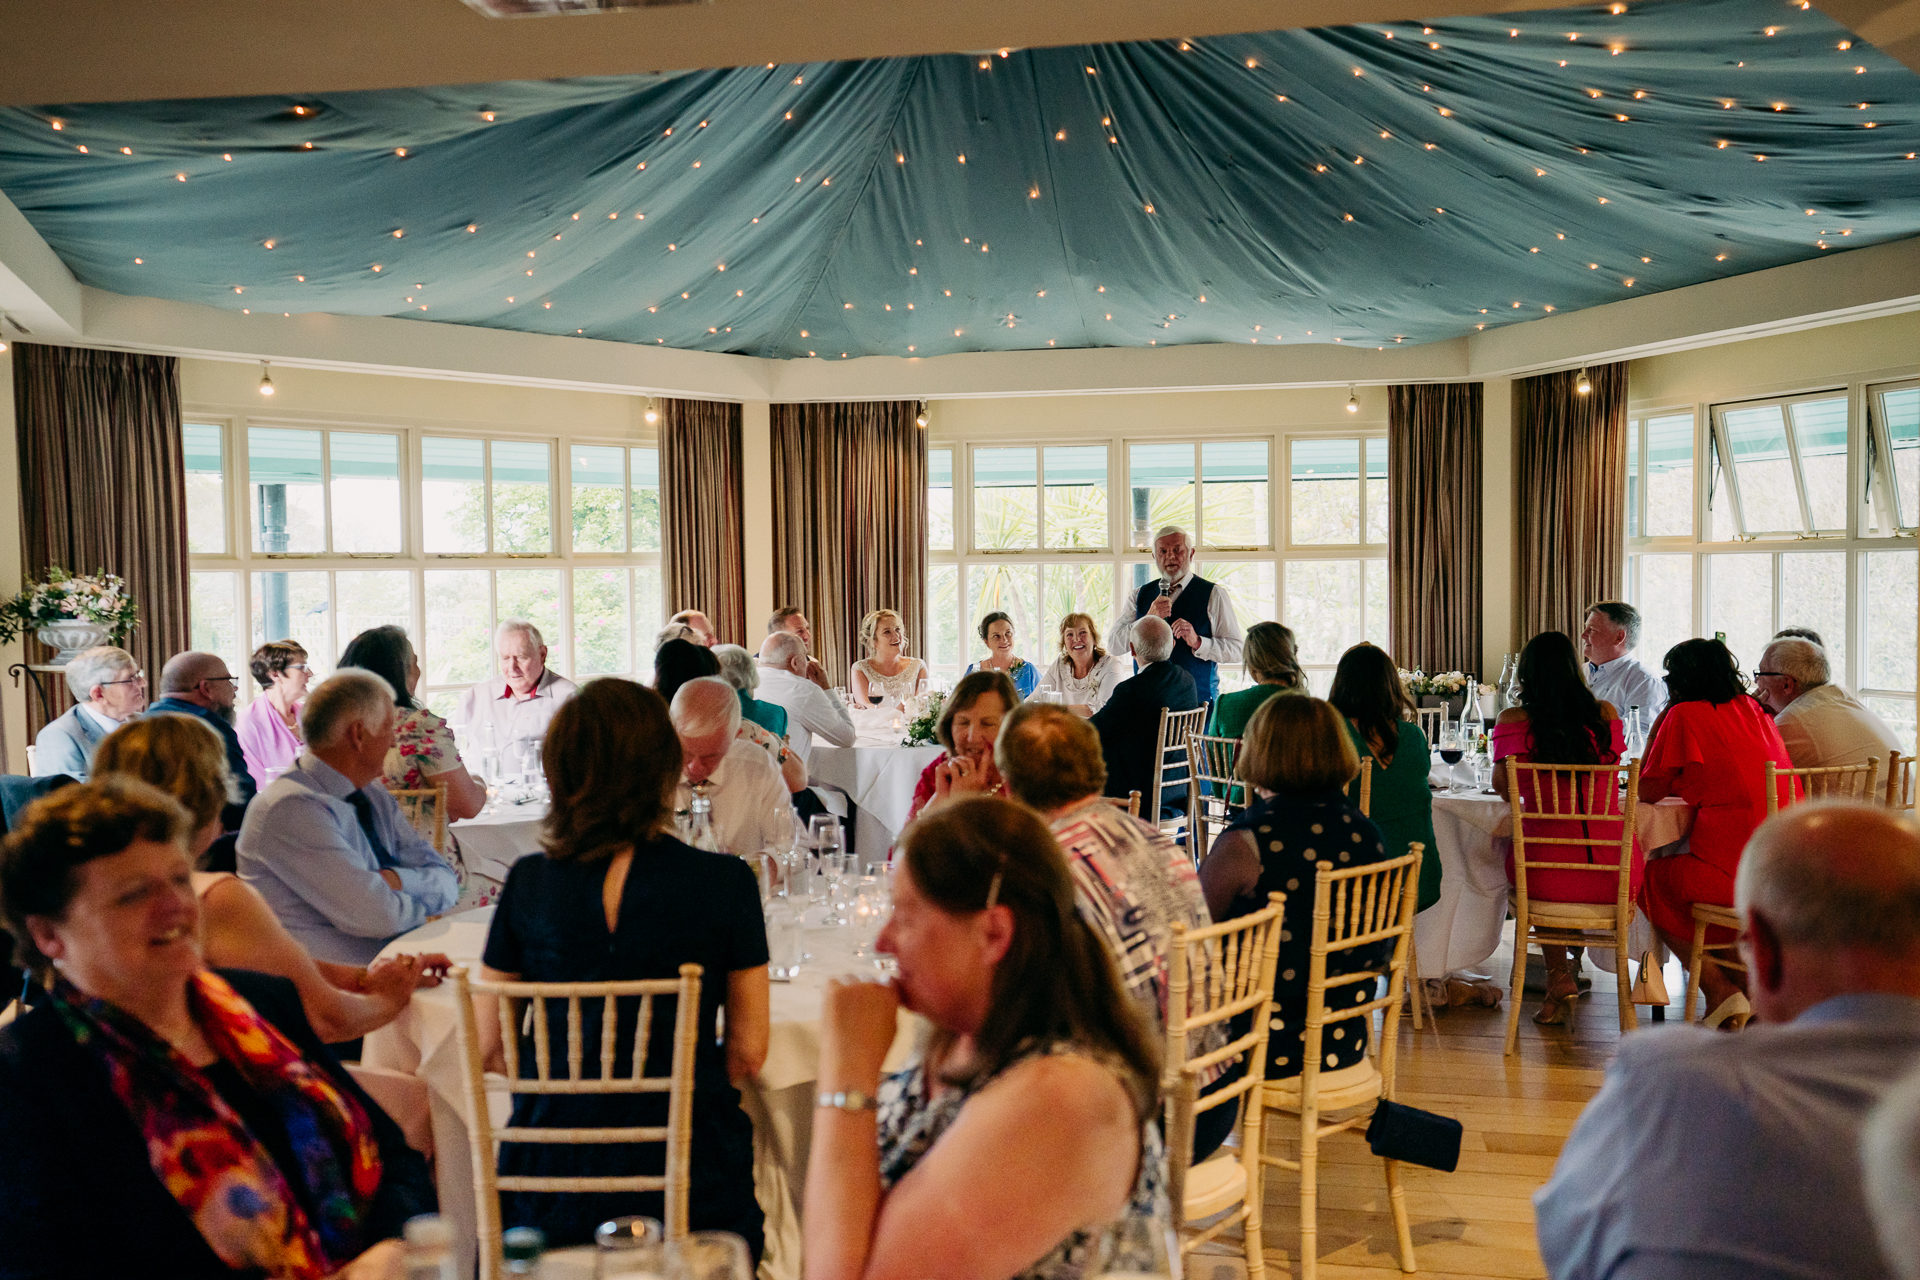
<path fill-rule="evenodd" d="M 1308 1019 L 1308 948 L 1313 935 L 1313 875 L 1321 862 L 1336 869 L 1386 862 L 1380 829 L 1346 800 L 1359 775 L 1359 756 L 1346 722 L 1319 699 L 1269 699 L 1246 725 L 1240 777 L 1260 802 L 1221 831 L 1200 865 L 1200 887 L 1215 921 L 1246 915 L 1286 894 L 1281 919 L 1281 963 L 1273 975 L 1273 1027 L 1267 1031 L 1267 1079 L 1300 1075 Z M 1327 958 L 1327 977 L 1375 967 L 1377 948 Z M 1365 1004 L 1373 986 L 1336 986 L 1329 1000 Z M 1338 1007 L 1338 1006 L 1334 1006 Z M 1235 1032 L 1240 1034 L 1240 1032 Z M 1327 1029 L 1325 1071 L 1367 1055 L 1367 1019 Z"/>

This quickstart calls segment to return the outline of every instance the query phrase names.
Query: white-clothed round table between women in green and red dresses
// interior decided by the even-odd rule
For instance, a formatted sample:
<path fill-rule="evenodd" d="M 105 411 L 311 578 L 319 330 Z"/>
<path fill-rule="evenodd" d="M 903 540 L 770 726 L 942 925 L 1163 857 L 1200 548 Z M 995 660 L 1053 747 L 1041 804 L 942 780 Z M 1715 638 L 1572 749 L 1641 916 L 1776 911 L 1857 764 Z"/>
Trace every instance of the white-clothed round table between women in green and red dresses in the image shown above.
<path fill-rule="evenodd" d="M 1452 770 L 1436 768 L 1432 781 L 1446 785 Z M 1465 785 L 1471 779 L 1459 770 Z M 1647 858 L 1686 850 L 1693 829 L 1693 806 L 1668 798 L 1634 806 L 1634 831 Z M 1444 977 L 1473 969 L 1500 950 L 1507 923 L 1507 854 L 1513 852 L 1513 808 L 1505 796 L 1486 791 L 1467 794 L 1434 793 L 1434 842 L 1440 852 L 1440 900 L 1413 917 L 1413 946 L 1421 977 Z M 1640 956 L 1657 950 L 1645 915 L 1634 912 L 1628 950 Z M 1588 948 L 1588 960 L 1613 971 L 1613 952 Z"/>

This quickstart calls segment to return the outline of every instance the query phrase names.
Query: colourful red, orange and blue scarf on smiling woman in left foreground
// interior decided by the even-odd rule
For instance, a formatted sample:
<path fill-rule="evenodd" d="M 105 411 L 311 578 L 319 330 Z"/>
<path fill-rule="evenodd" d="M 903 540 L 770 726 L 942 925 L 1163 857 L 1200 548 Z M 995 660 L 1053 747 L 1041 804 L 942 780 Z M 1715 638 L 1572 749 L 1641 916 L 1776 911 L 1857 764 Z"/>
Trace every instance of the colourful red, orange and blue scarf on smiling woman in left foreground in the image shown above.
<path fill-rule="evenodd" d="M 380 1186 L 367 1113 L 215 973 L 196 973 L 186 998 L 213 1052 L 278 1113 L 298 1169 L 282 1171 L 207 1077 L 146 1023 L 65 979 L 54 986 L 54 1007 L 106 1063 L 146 1138 L 154 1174 L 221 1261 L 294 1280 L 330 1276 L 359 1255 Z M 313 1221 L 290 1190 L 296 1176 Z"/>

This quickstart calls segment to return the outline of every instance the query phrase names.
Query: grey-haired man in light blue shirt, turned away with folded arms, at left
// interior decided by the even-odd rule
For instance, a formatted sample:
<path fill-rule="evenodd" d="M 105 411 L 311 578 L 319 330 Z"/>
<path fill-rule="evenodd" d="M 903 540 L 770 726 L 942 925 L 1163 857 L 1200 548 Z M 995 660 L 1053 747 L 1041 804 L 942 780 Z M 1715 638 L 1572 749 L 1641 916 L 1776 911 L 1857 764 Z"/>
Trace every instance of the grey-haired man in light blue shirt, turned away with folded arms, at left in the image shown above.
<path fill-rule="evenodd" d="M 380 785 L 397 718 L 394 687 L 371 672 L 321 681 L 300 710 L 307 750 L 240 827 L 240 879 L 319 960 L 363 965 L 461 894 Z"/>

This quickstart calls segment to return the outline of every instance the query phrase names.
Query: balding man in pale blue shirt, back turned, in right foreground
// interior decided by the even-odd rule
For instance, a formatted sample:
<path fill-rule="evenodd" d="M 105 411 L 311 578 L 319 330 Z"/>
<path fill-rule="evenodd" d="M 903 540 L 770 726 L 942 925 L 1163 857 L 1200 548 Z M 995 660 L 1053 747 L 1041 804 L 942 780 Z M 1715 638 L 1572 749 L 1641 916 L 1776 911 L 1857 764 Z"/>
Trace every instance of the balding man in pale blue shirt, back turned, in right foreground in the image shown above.
<path fill-rule="evenodd" d="M 1620 1038 L 1534 1196 L 1555 1280 L 1887 1274 L 1859 1136 L 1920 1061 L 1920 825 L 1795 804 L 1753 833 L 1734 898 L 1759 1025 Z"/>

